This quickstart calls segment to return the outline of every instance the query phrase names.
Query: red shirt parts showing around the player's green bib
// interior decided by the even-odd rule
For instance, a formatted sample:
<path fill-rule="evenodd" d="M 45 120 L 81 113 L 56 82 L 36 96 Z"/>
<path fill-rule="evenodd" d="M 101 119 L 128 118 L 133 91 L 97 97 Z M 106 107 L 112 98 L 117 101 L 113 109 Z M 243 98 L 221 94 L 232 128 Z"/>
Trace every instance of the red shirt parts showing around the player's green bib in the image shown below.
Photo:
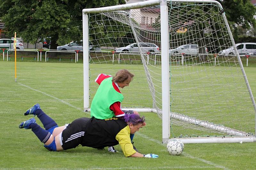
<path fill-rule="evenodd" d="M 109 78 L 109 77 L 112 77 L 110 75 L 106 75 L 106 74 L 99 74 L 98 77 L 95 79 L 95 82 L 98 83 L 100 85 L 100 83 L 106 79 L 106 78 Z M 114 82 L 112 82 L 112 85 L 114 87 L 114 89 L 121 93 L 120 90 L 119 90 L 119 87 L 118 85 L 116 85 Z M 120 117 L 120 116 L 124 116 L 124 112 L 122 111 L 122 108 L 121 108 L 121 103 L 119 101 L 113 103 L 110 107 L 109 107 L 110 110 L 112 110 L 115 114 L 116 117 Z"/>

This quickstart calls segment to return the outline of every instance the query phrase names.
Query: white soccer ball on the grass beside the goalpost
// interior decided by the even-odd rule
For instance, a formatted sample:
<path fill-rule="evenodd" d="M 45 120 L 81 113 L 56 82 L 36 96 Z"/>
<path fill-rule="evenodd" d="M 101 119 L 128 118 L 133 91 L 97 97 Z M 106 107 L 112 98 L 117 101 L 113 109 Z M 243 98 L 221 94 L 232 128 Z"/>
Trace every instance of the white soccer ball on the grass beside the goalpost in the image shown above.
<path fill-rule="evenodd" d="M 167 143 L 167 151 L 172 155 L 180 155 L 184 144 L 178 139 L 172 139 Z"/>

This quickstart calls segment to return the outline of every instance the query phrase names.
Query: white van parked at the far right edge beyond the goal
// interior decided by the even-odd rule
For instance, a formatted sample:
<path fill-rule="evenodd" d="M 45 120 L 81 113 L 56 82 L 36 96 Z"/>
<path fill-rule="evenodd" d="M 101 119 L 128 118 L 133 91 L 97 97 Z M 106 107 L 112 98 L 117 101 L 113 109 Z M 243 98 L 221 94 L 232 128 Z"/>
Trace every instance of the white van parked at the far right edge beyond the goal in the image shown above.
<path fill-rule="evenodd" d="M 246 54 L 246 53 L 250 53 L 252 51 L 256 50 L 256 43 L 253 42 L 242 42 L 242 43 L 238 43 L 236 44 L 236 48 L 238 51 L 238 54 Z M 232 55 L 232 54 L 236 54 L 234 47 L 229 47 L 227 49 L 221 50 L 219 52 L 220 55 Z"/>

